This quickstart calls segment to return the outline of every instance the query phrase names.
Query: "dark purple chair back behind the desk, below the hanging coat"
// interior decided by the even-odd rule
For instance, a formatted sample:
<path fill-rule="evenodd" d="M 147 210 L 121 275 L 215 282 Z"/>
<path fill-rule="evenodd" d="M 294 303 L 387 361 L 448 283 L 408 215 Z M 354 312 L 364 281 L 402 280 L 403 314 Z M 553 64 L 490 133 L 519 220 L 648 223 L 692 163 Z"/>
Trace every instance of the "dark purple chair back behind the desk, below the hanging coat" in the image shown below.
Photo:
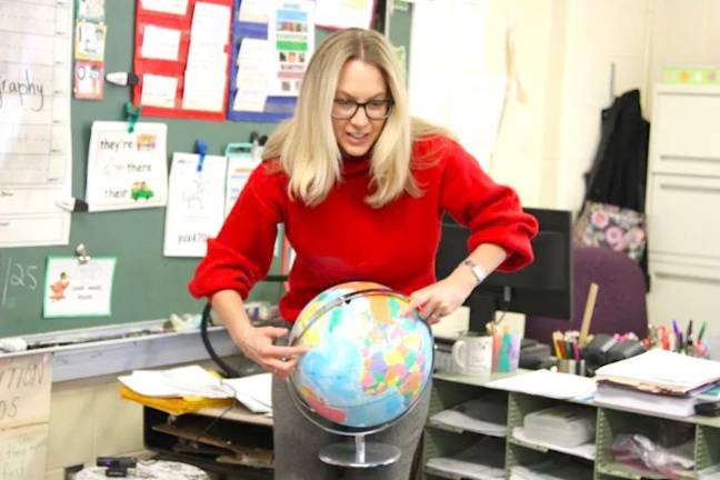
<path fill-rule="evenodd" d="M 591 333 L 648 332 L 646 280 L 640 267 L 622 252 L 599 247 L 572 247 L 572 318 L 570 321 L 528 316 L 526 338 L 552 344 L 556 330 L 580 330 L 590 283 L 598 284 Z"/>

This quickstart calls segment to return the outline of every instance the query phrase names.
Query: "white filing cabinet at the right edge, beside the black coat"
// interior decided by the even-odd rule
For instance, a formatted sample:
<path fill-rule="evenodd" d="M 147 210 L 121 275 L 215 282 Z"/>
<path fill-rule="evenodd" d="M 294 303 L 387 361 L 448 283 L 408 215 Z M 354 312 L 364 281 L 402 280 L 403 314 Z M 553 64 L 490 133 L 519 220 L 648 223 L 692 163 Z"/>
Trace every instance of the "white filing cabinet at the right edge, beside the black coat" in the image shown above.
<path fill-rule="evenodd" d="M 648 162 L 650 322 L 707 322 L 720 358 L 720 87 L 659 84 Z"/>

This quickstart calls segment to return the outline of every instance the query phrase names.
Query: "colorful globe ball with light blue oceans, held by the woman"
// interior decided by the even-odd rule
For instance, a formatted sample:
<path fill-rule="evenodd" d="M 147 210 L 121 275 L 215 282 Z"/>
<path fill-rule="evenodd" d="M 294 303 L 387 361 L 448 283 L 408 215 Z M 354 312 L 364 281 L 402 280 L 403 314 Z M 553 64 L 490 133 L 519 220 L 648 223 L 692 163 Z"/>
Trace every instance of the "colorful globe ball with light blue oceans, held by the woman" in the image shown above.
<path fill-rule="evenodd" d="M 361 431 L 390 424 L 432 373 L 432 334 L 408 299 L 373 282 L 332 287 L 300 312 L 290 343 L 309 351 L 290 377 L 301 408 Z M 321 423 L 322 426 L 322 423 Z"/>

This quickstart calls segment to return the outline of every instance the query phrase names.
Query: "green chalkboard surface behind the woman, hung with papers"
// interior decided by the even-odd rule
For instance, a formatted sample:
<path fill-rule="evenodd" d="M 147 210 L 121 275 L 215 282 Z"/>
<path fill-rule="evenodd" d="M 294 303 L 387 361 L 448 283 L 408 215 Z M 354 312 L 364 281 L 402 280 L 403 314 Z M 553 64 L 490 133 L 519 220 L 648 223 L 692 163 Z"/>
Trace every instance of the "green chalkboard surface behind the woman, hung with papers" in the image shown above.
<path fill-rule="evenodd" d="M 384 2 L 380 2 L 384 3 Z M 106 0 L 108 37 L 106 71 L 131 71 L 134 0 Z M 410 14 L 394 12 L 391 40 L 408 47 Z M 317 42 L 327 36 L 317 31 Z M 71 79 L 68 79 L 70 82 Z M 102 101 L 72 100 L 72 193 L 84 198 L 90 127 L 94 120 L 124 120 L 129 89 L 106 83 Z M 209 154 L 222 154 L 229 142 L 248 141 L 252 131 L 270 133 L 271 123 L 238 123 L 141 118 L 168 124 L 168 156 L 191 152 L 194 140 L 209 144 Z M 187 289 L 199 259 L 162 256 L 164 209 L 73 213 L 70 244 L 0 250 L 0 337 L 129 323 L 167 318 L 171 312 L 199 312 L 203 303 Z M 84 243 L 90 256 L 118 258 L 112 292 L 112 314 L 98 318 L 43 319 L 46 259 L 72 256 Z M 259 283 L 251 299 L 277 300 L 276 283 Z"/>

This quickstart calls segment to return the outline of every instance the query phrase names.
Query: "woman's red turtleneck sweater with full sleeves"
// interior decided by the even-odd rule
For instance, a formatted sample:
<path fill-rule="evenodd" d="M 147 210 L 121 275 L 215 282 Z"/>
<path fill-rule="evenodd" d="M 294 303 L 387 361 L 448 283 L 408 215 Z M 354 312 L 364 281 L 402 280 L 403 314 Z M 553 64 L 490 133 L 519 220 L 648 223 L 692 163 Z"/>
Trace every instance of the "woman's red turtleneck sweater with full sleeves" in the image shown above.
<path fill-rule="evenodd" d="M 314 296 L 346 281 L 374 281 L 406 294 L 433 283 L 444 211 L 470 228 L 469 251 L 481 243 L 506 249 L 500 270 L 532 261 L 537 221 L 522 212 L 513 190 L 494 183 L 452 140 L 417 141 L 412 154 L 412 174 L 423 196 L 403 193 L 379 209 L 363 201 L 371 179 L 367 159 L 344 160 L 342 180 L 316 207 L 290 200 L 288 177 L 277 163 L 261 164 L 218 238 L 208 241 L 190 292 L 200 298 L 232 289 L 247 298 L 270 268 L 279 223 L 297 253 L 289 291 L 280 300 L 289 322 Z"/>

